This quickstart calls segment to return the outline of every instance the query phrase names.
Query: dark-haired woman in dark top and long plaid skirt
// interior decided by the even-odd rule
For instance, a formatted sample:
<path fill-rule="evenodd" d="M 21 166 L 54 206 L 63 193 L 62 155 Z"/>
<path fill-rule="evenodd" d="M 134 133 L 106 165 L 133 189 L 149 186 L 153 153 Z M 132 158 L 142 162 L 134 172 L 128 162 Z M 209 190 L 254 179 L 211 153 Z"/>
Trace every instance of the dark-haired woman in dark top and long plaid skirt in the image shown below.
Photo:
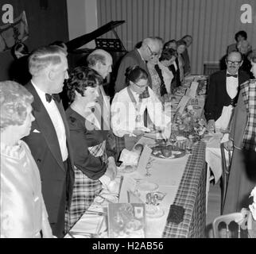
<path fill-rule="evenodd" d="M 75 164 L 75 183 L 70 209 L 66 213 L 69 230 L 91 206 L 96 194 L 114 179 L 114 157 L 107 157 L 106 135 L 95 117 L 101 77 L 90 67 L 76 67 L 67 82 L 71 102 L 66 111 Z"/>

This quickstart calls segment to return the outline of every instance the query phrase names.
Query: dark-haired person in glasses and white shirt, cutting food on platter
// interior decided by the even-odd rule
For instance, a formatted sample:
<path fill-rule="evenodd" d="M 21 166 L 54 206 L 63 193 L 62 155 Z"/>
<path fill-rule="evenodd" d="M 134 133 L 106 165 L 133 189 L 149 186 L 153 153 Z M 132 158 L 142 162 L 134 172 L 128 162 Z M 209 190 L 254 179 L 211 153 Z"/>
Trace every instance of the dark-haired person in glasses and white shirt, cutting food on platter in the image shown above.
<path fill-rule="evenodd" d="M 165 138 L 170 135 L 171 117 L 164 114 L 160 100 L 148 83 L 148 74 L 144 69 L 139 66 L 128 67 L 127 87 L 114 95 L 111 105 L 113 132 L 116 136 L 125 138 L 126 149 L 129 150 L 145 132 L 153 130 L 153 126 L 147 126 L 145 122 L 145 109 L 148 112 L 147 122 L 150 118 L 157 129 L 164 131 Z"/>

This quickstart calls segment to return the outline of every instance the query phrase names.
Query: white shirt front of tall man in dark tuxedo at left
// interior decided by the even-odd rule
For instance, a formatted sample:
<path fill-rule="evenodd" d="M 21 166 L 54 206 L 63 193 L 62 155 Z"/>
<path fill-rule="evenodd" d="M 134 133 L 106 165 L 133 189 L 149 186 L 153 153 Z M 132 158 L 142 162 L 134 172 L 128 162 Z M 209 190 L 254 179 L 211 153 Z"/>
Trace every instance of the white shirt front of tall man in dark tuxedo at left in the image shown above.
<path fill-rule="evenodd" d="M 37 90 L 37 94 L 41 98 L 41 102 L 45 106 L 45 110 L 47 111 L 49 117 L 52 120 L 52 124 L 54 126 L 56 136 L 59 141 L 62 160 L 65 161 L 68 159 L 68 148 L 64 122 L 60 115 L 60 111 L 58 110 L 56 103 L 53 99 L 51 102 L 47 102 L 45 98 L 45 92 L 40 90 L 33 82 L 31 83 L 33 84 L 33 87 L 35 87 L 35 89 Z"/>

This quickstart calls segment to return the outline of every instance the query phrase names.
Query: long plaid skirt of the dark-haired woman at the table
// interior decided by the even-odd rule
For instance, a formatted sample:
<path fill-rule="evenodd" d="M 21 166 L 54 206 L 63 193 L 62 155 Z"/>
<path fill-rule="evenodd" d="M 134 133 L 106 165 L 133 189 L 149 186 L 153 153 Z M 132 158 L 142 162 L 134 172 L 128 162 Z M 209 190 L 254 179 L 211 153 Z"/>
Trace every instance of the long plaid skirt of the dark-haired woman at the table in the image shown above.
<path fill-rule="evenodd" d="M 85 213 L 95 199 L 95 194 L 102 190 L 99 180 L 89 179 L 77 167 L 75 167 L 75 183 L 73 187 L 72 201 L 69 210 L 65 214 L 65 231 L 68 232 L 76 221 Z"/>

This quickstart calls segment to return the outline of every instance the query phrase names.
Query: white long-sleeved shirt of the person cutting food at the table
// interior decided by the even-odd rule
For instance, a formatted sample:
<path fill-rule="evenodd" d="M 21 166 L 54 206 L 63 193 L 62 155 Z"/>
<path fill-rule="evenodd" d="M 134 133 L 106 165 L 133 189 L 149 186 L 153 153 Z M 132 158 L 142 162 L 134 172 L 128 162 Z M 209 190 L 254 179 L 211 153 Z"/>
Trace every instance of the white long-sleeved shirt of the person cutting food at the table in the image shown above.
<path fill-rule="evenodd" d="M 133 133 L 135 129 L 146 129 L 144 125 L 144 111 L 146 108 L 151 121 L 156 127 L 164 129 L 170 123 L 171 117 L 165 114 L 160 100 L 150 87 L 148 87 L 149 98 L 142 98 L 140 103 L 139 94 L 131 90 L 137 102 L 136 106 L 131 101 L 127 88 L 114 95 L 111 105 L 111 127 L 114 135 L 123 137 L 125 134 Z M 138 110 L 136 110 L 136 107 Z M 136 118 L 138 121 L 136 121 Z"/>

